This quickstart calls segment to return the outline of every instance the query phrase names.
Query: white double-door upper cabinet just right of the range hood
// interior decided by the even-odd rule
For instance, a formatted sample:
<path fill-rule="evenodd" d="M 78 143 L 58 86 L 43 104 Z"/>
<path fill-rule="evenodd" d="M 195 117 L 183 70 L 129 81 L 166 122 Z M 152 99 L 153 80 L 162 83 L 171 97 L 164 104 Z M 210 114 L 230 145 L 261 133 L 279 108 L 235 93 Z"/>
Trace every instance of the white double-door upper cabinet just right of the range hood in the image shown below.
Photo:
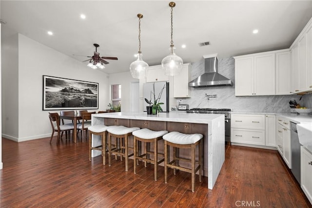
<path fill-rule="evenodd" d="M 275 53 L 236 56 L 235 96 L 275 94 Z"/>

